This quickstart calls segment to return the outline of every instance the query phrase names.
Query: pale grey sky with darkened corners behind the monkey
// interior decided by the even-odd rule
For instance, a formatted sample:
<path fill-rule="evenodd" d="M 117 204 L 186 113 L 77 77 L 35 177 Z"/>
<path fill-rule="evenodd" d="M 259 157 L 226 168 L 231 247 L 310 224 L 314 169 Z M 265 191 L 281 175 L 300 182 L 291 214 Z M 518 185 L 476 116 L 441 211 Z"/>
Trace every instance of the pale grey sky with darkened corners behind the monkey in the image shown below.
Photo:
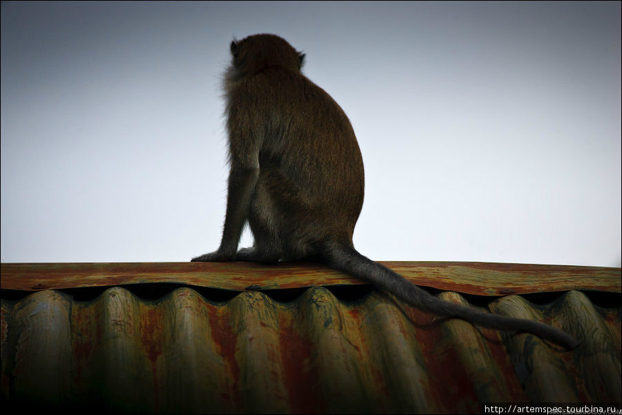
<path fill-rule="evenodd" d="M 619 1 L 1 8 L 2 262 L 214 251 L 220 76 L 270 32 L 355 128 L 364 255 L 621 264 Z"/>

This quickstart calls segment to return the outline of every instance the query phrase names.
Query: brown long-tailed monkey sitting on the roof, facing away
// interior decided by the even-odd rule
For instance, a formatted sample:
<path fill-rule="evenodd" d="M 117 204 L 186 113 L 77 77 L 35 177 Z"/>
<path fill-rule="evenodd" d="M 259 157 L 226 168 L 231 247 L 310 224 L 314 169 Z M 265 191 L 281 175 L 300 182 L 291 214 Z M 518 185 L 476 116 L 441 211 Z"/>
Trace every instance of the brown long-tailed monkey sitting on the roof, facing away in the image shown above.
<path fill-rule="evenodd" d="M 276 35 L 230 44 L 223 79 L 229 179 L 218 249 L 192 261 L 319 262 L 409 305 L 498 330 L 529 331 L 568 349 L 578 341 L 543 322 L 448 302 L 361 255 L 352 234 L 363 206 L 364 168 L 350 120 L 301 72 L 305 54 Z M 252 247 L 240 249 L 248 224 Z"/>

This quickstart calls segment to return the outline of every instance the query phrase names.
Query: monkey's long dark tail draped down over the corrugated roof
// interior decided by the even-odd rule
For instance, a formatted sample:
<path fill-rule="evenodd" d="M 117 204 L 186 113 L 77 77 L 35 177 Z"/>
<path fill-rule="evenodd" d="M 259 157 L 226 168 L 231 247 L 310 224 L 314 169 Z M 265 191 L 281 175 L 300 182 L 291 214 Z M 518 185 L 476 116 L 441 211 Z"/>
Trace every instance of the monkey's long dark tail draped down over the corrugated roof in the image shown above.
<path fill-rule="evenodd" d="M 327 243 L 323 247 L 323 257 L 329 267 L 368 281 L 408 304 L 438 316 L 458 317 L 475 325 L 497 330 L 529 331 L 540 338 L 563 345 L 567 349 L 574 349 L 579 344 L 565 331 L 542 322 L 484 313 L 478 309 L 441 300 L 384 265 L 361 255 L 353 247 L 336 242 Z"/>

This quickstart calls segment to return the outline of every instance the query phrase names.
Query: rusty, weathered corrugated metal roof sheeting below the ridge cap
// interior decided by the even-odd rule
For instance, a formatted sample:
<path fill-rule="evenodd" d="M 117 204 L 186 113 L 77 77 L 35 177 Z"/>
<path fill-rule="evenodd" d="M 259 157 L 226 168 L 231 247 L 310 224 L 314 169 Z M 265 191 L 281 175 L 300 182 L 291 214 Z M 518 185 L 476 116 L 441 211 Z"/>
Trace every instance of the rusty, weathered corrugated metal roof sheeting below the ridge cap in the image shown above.
<path fill-rule="evenodd" d="M 542 300 L 533 296 L 489 303 L 468 297 L 472 307 L 543 320 L 581 340 L 563 351 L 531 334 L 437 320 L 371 289 L 351 296 L 357 287 L 312 287 L 285 300 L 247 291 L 216 301 L 215 290 L 191 287 L 149 299 L 142 286 L 100 289 L 87 299 L 75 290 L 16 296 L 6 291 L 5 266 L 5 405 L 159 413 L 477 413 L 491 402 L 621 402 L 619 290 L 566 291 L 542 304 L 529 302 Z M 615 284 L 612 278 L 594 277 L 605 286 Z M 241 283 L 250 285 L 244 278 Z M 466 303 L 458 293 L 440 296 Z"/>

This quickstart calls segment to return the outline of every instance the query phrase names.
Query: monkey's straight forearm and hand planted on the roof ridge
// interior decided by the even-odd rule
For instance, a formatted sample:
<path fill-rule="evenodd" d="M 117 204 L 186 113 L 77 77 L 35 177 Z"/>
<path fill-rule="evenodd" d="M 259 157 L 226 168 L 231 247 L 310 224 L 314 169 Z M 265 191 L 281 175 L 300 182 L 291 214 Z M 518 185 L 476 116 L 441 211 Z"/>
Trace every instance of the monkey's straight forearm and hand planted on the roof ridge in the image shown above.
<path fill-rule="evenodd" d="M 229 187 L 227 190 L 227 213 L 223 240 L 220 241 L 218 251 L 206 253 L 193 261 L 232 261 L 238 250 L 238 243 L 242 228 L 247 219 L 250 198 L 259 176 L 258 167 L 244 168 L 232 166 L 229 172 Z"/>

